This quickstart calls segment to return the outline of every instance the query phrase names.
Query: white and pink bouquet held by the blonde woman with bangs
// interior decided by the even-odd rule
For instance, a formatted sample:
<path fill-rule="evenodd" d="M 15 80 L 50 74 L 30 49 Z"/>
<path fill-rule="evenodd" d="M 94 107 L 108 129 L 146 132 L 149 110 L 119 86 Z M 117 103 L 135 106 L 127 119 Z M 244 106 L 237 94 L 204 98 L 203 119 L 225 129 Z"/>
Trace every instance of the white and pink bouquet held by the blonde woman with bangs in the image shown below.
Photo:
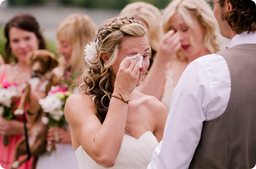
<path fill-rule="evenodd" d="M 64 107 L 67 98 L 71 95 L 66 88 L 59 85 L 51 87 L 48 95 L 44 99 L 39 99 L 39 104 L 44 112 L 48 113 L 48 118 L 42 118 L 44 124 L 49 126 L 64 127 L 67 121 L 64 116 Z M 56 148 L 51 141 L 47 142 L 46 151 L 50 155 Z"/>

